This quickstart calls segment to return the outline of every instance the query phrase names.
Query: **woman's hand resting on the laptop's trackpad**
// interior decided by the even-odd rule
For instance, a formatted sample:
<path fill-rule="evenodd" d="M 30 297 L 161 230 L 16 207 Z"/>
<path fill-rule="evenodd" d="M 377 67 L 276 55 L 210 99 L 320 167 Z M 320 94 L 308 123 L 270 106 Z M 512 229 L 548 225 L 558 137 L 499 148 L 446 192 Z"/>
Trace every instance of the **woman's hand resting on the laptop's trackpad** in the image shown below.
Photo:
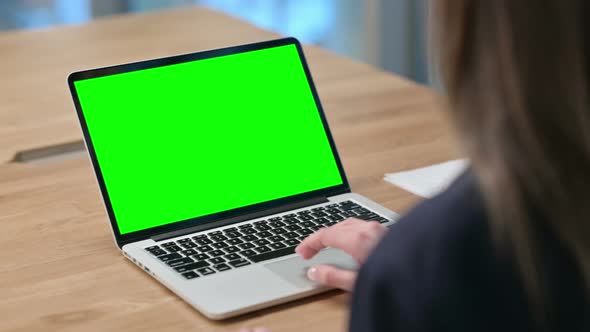
<path fill-rule="evenodd" d="M 343 250 L 362 264 L 386 232 L 387 228 L 376 221 L 351 218 L 310 235 L 297 246 L 295 252 L 303 259 L 310 259 L 321 249 L 332 247 Z M 315 265 L 307 270 L 307 276 L 320 284 L 351 291 L 357 272 Z"/>

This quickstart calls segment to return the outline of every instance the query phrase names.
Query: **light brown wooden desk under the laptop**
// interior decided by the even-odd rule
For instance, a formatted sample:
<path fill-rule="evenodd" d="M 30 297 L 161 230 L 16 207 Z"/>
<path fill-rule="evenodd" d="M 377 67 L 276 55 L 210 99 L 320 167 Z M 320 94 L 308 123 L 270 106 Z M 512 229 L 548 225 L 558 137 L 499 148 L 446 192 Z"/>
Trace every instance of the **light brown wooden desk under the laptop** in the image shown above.
<path fill-rule="evenodd" d="M 276 37 L 201 8 L 0 34 L 0 160 L 79 140 L 68 72 Z M 386 172 L 456 156 L 436 96 L 368 65 L 306 47 L 353 189 L 403 211 L 416 197 Z M 116 249 L 86 158 L 0 165 L 0 331 L 343 331 L 348 295 L 330 292 L 209 321 Z"/>

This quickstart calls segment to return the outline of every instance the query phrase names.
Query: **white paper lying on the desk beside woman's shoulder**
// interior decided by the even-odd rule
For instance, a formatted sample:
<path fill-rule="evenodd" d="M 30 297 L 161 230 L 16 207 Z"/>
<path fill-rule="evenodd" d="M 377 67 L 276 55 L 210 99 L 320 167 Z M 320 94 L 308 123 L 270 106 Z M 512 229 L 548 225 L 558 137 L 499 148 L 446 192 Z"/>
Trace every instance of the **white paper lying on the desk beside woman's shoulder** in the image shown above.
<path fill-rule="evenodd" d="M 451 160 L 410 171 L 385 174 L 385 181 L 418 196 L 430 198 L 445 190 L 468 166 L 467 159 Z"/>

